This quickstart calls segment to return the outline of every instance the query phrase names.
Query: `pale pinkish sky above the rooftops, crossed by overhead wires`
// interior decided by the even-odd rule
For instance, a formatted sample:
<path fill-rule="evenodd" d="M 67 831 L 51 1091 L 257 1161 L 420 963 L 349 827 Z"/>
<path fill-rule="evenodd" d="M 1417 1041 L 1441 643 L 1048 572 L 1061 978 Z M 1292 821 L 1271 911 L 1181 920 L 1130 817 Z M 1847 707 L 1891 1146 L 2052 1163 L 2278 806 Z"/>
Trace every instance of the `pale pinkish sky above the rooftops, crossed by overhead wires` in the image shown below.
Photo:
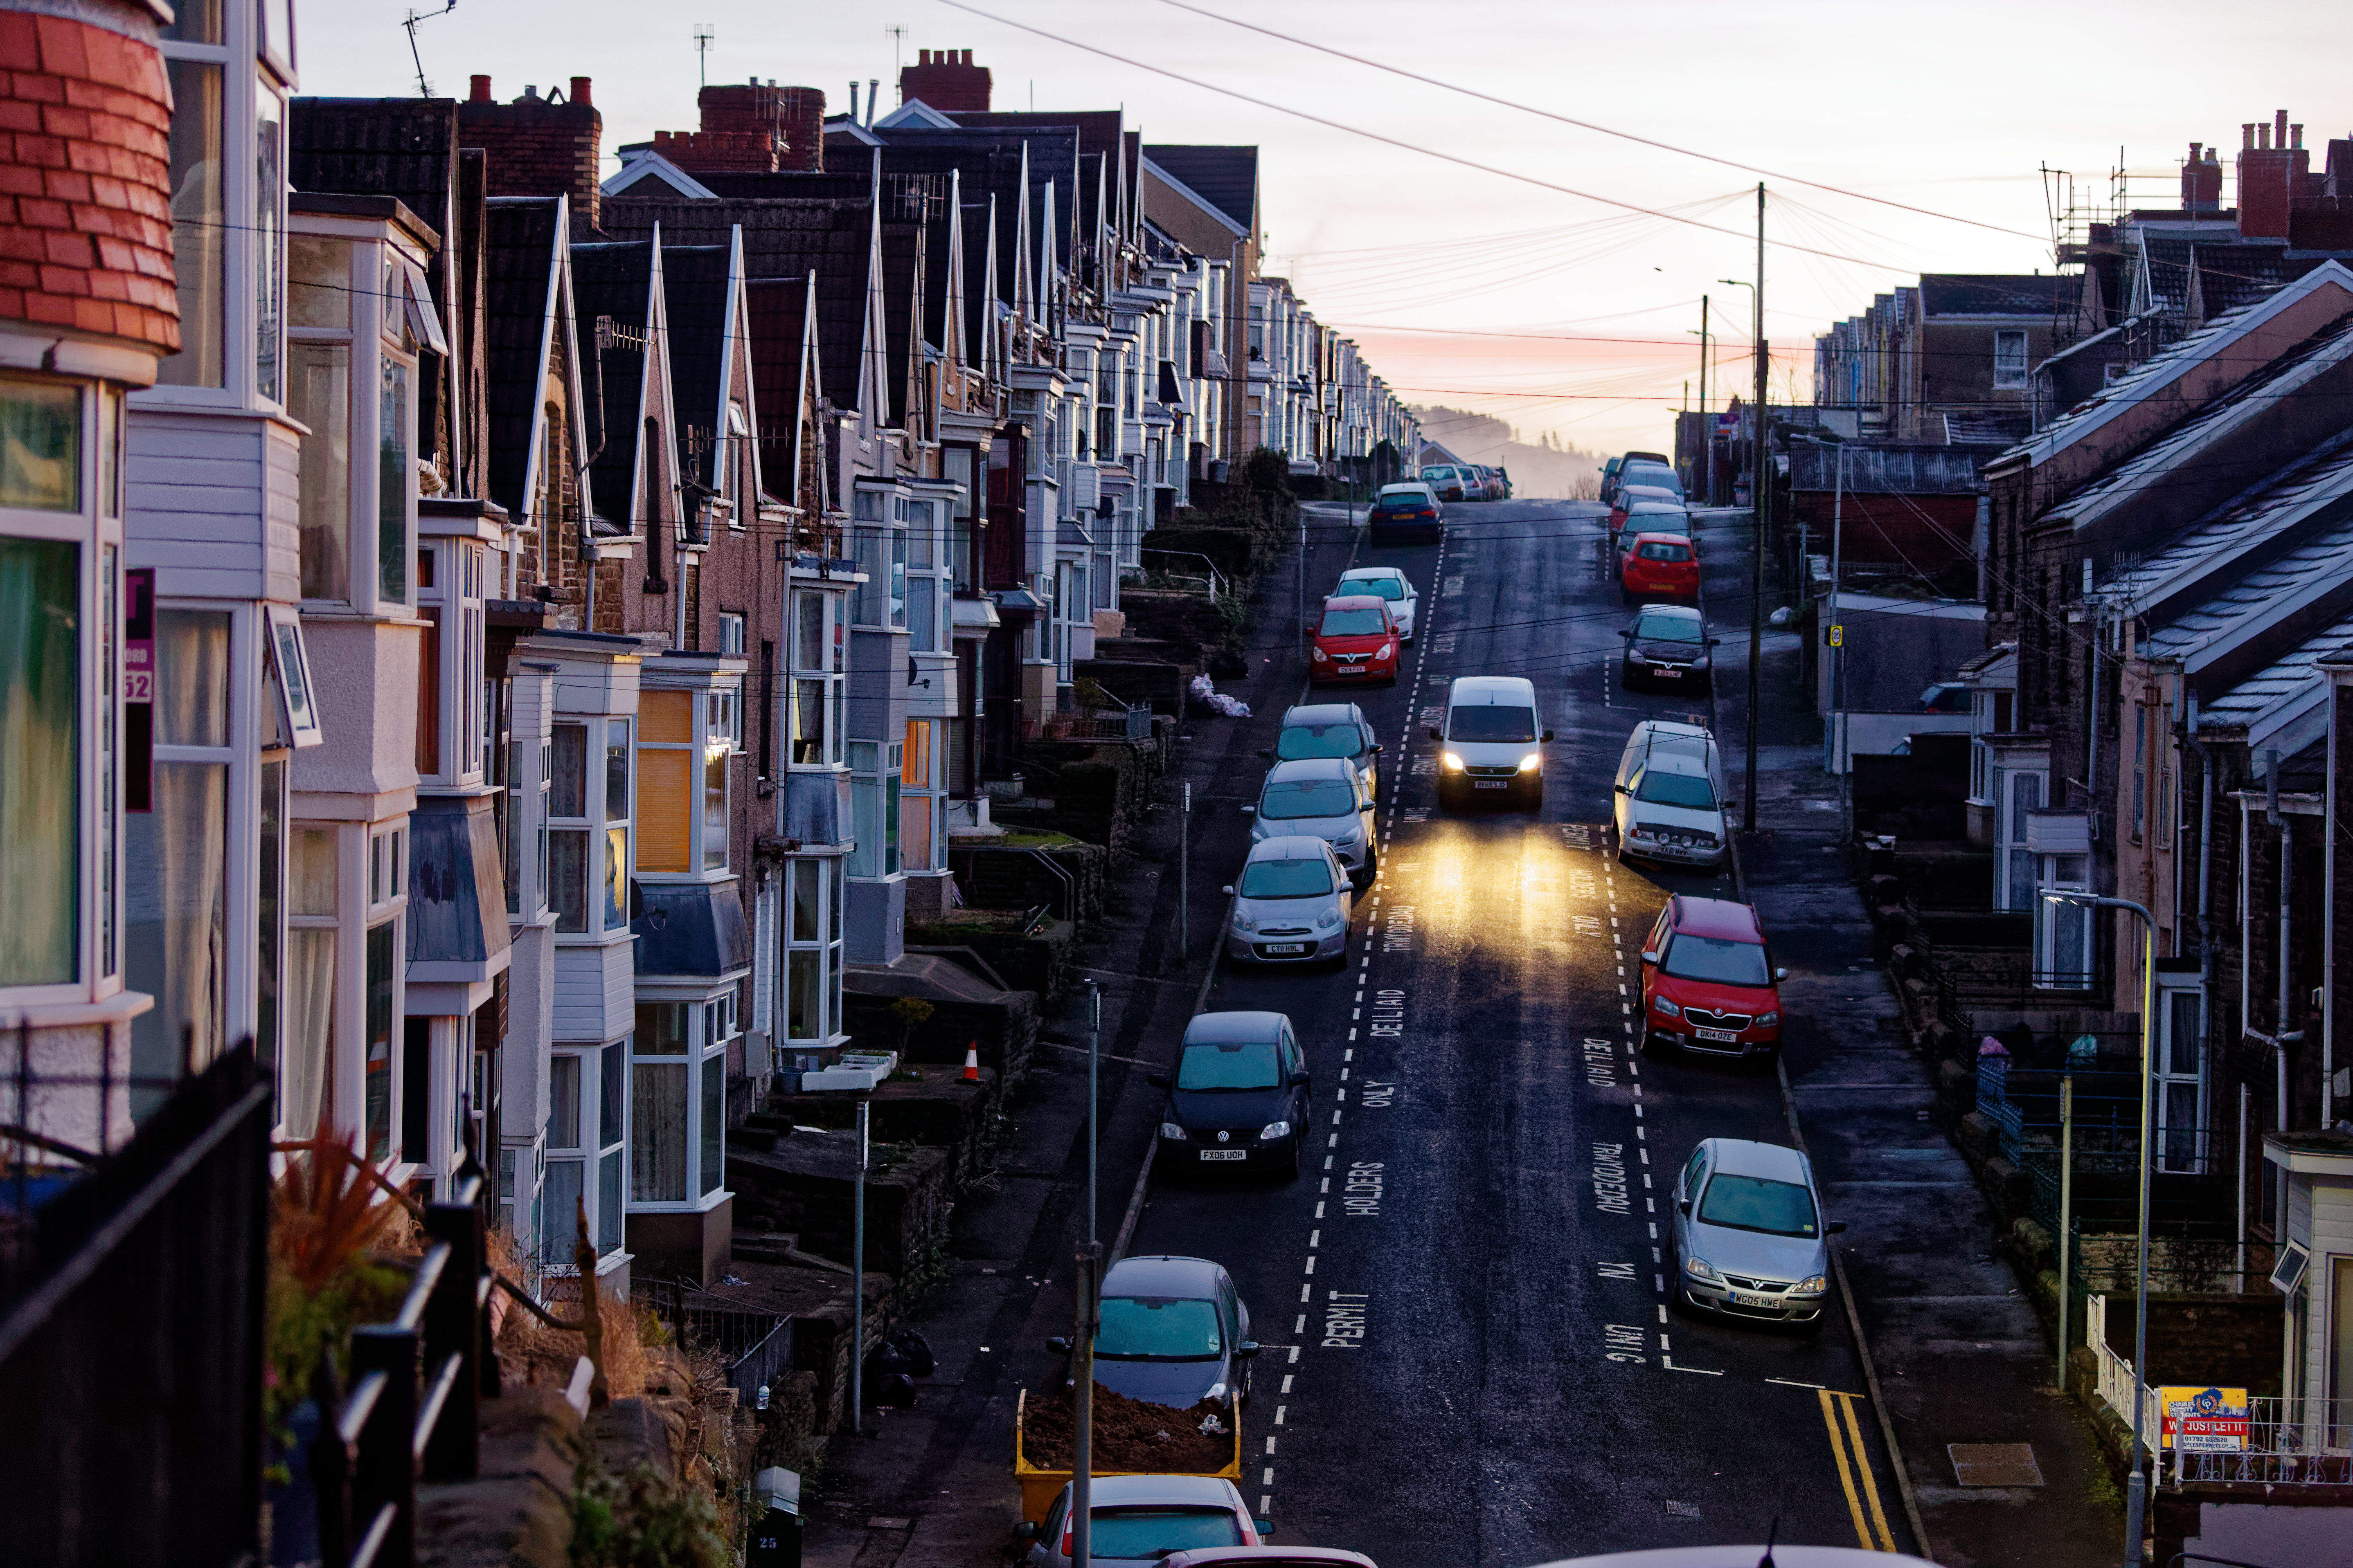
<path fill-rule="evenodd" d="M 882 78 L 887 113 L 899 101 L 894 56 L 972 49 L 995 73 L 998 108 L 1028 108 L 1035 94 L 1038 108 L 1125 108 L 1146 141 L 1257 143 L 1266 270 L 1289 275 L 1315 315 L 1348 329 L 1414 402 L 1482 409 L 1529 440 L 1555 430 L 1602 451 L 1661 447 L 1666 411 L 1697 378 L 1701 294 L 1715 301 L 1722 378 L 1748 386 L 1748 292 L 1718 280 L 1755 275 L 1746 235 L 1758 174 L 1466 99 L 1165 0 L 972 2 L 1414 148 L 1744 237 L 1311 125 L 941 0 L 459 0 L 419 24 L 416 45 L 447 96 L 464 96 L 478 71 L 501 99 L 593 78 L 607 158 L 654 129 L 694 129 L 694 24 L 715 31 L 711 80 L 819 87 L 833 113 L 847 108 L 849 82 L 864 94 L 868 78 Z M 2325 0 L 1188 2 L 1769 169 L 1765 329 L 1777 400 L 1805 395 L 1817 331 L 1920 270 L 2049 270 L 2040 165 L 2075 169 L 2085 200 L 2106 205 L 2122 148 L 2134 205 L 2162 207 L 2177 200 L 2174 169 L 2193 139 L 2221 143 L 2228 169 L 2238 127 L 2285 108 L 2306 127 L 2318 167 L 2329 136 L 2353 134 L 2344 87 L 2353 7 Z M 407 12 L 386 0 L 306 0 L 301 89 L 416 92 L 400 31 Z"/>

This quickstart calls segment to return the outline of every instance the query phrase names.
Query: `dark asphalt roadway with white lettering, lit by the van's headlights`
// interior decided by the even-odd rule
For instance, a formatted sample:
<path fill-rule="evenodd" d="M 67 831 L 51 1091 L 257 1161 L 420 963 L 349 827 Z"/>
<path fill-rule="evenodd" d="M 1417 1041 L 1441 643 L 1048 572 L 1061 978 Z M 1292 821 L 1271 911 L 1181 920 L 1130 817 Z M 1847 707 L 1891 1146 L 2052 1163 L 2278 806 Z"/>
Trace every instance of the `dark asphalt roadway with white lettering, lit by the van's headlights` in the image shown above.
<path fill-rule="evenodd" d="M 1626 611 L 1595 515 L 1454 505 L 1442 548 L 1358 552 L 1421 592 L 1409 677 L 1358 696 L 1388 748 L 1381 879 L 1346 971 L 1228 966 L 1207 1001 L 1289 1013 L 1322 1147 L 1297 1182 L 1155 1178 L 1129 1251 L 1214 1258 L 1240 1284 L 1266 1345 L 1242 1490 L 1278 1540 L 1384 1568 L 1774 1528 L 1908 1549 L 1845 1316 L 1800 1338 L 1666 1307 L 1678 1161 L 1708 1135 L 1791 1138 L 1774 1074 L 1633 1053 L 1642 933 L 1671 891 L 1729 879 L 1609 853 L 1626 731 L 1706 703 L 1619 691 Z M 1739 576 L 1737 543 L 1704 529 L 1711 585 Z M 1729 686 L 1744 625 L 1715 630 Z M 1555 729 L 1541 813 L 1438 811 L 1424 724 L 1457 675 L 1537 682 Z M 1802 931 L 1769 936 L 1807 966 Z"/>

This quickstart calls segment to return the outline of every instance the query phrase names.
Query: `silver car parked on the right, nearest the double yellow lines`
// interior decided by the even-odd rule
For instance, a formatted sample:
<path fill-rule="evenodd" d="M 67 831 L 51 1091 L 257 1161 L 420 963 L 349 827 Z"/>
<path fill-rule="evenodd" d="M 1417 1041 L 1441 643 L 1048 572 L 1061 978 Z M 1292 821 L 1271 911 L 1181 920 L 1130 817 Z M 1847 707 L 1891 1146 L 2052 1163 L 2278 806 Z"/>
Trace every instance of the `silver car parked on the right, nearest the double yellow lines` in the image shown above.
<path fill-rule="evenodd" d="M 1675 1173 L 1675 1288 L 1734 1319 L 1821 1328 L 1831 1237 L 1814 1161 L 1779 1143 L 1708 1138 Z"/>

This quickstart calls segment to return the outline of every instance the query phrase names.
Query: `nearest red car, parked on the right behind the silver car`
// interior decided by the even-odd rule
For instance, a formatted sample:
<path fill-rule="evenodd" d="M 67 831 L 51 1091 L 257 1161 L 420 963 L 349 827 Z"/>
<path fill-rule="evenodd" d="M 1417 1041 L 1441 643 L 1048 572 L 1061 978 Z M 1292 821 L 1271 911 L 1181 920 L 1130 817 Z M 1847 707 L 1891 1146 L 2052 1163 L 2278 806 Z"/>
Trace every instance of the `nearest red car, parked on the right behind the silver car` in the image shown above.
<path fill-rule="evenodd" d="M 1772 1063 L 1784 978 L 1751 905 L 1678 893 L 1642 943 L 1642 1044 Z"/>

